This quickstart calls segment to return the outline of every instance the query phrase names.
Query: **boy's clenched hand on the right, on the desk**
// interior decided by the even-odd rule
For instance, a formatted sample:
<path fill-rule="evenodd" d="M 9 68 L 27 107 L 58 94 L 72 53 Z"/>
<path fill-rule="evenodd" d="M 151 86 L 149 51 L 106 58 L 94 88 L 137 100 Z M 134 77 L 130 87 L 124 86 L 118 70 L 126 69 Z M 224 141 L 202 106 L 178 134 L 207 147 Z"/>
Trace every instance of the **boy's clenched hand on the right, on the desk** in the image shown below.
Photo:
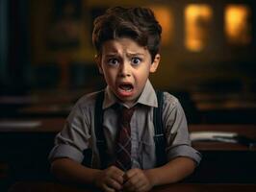
<path fill-rule="evenodd" d="M 123 178 L 124 191 L 145 192 L 149 191 L 153 187 L 149 178 L 141 169 L 131 169 L 126 172 Z"/>

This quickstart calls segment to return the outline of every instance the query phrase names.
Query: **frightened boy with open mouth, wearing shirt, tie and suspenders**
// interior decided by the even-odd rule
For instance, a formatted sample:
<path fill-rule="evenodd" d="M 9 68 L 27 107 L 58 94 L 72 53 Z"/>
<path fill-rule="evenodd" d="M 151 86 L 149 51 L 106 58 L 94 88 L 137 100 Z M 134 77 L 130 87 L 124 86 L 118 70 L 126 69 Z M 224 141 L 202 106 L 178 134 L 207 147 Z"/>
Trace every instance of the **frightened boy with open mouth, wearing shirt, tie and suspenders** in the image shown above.
<path fill-rule="evenodd" d="M 199 163 L 200 154 L 191 147 L 184 111 L 178 100 L 165 92 L 162 120 L 167 161 L 156 167 L 153 109 L 158 107 L 158 101 L 148 76 L 160 62 L 161 32 L 153 12 L 146 8 L 115 7 L 95 19 L 95 60 L 107 83 L 101 108 L 109 157 L 100 159 L 94 122 L 99 93 L 91 93 L 72 109 L 49 156 L 52 171 L 60 180 L 94 184 L 109 192 L 142 192 L 184 179 Z M 120 106 L 134 110 L 125 126 L 118 122 Z M 118 139 L 120 129 L 128 137 Z M 120 144 L 123 140 L 128 141 L 128 148 Z M 87 149 L 91 149 L 91 159 L 83 154 Z M 129 157 L 119 158 L 120 151 Z M 130 161 L 123 163 L 124 158 Z M 90 161 L 90 165 L 82 165 L 83 160 Z M 103 162 L 107 167 L 100 169 Z"/>

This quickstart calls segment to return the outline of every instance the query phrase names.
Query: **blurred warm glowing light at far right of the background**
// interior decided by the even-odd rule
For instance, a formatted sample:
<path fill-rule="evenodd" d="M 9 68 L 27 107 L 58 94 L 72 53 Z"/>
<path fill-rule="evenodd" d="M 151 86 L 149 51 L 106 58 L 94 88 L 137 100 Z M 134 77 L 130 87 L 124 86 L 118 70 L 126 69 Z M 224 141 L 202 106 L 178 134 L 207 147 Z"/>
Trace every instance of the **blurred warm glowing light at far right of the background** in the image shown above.
<path fill-rule="evenodd" d="M 251 41 L 249 18 L 251 12 L 246 5 L 229 5 L 225 10 L 225 34 L 232 44 L 248 44 Z"/>

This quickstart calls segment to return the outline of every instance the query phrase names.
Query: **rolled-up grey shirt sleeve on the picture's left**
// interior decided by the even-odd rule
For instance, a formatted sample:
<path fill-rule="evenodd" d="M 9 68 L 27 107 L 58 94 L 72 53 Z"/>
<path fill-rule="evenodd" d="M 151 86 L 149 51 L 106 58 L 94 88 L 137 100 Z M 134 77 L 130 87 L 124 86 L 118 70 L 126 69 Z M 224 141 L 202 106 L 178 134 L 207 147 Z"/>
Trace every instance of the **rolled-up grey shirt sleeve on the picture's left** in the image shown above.
<path fill-rule="evenodd" d="M 77 162 L 84 159 L 84 150 L 91 148 L 90 110 L 78 102 L 68 115 L 64 130 L 55 137 L 55 145 L 49 160 L 69 157 Z"/>

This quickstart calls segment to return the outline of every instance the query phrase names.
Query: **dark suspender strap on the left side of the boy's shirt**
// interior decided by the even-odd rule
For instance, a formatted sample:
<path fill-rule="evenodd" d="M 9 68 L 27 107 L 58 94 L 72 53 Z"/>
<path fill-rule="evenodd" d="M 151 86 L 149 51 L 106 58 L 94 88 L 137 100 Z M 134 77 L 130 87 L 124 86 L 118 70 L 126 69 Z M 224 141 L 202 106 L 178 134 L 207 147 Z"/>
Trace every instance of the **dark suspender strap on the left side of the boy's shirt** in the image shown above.
<path fill-rule="evenodd" d="M 104 111 L 102 109 L 102 104 L 104 101 L 104 90 L 100 91 L 96 96 L 96 103 L 95 103 L 95 114 L 94 114 L 94 128 L 95 128 L 95 135 L 96 135 L 96 145 L 100 157 L 100 165 L 101 169 L 107 168 L 107 146 L 106 146 L 106 138 L 103 132 L 103 114 Z"/>

